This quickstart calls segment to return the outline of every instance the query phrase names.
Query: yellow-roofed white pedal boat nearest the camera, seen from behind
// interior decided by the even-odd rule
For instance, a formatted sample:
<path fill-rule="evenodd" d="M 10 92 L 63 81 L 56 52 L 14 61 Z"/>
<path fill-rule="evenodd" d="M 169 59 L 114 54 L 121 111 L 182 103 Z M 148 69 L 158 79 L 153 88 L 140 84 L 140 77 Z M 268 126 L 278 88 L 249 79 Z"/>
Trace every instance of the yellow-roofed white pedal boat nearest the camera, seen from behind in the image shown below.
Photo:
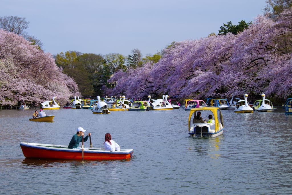
<path fill-rule="evenodd" d="M 193 123 L 192 119 L 200 111 L 201 114 L 206 113 L 206 117 L 209 114 L 213 115 L 212 123 Z M 206 112 L 207 111 L 207 112 Z M 218 121 L 220 119 L 220 121 Z M 223 134 L 223 117 L 218 107 L 202 107 L 192 108 L 189 114 L 189 134 L 192 137 L 216 137 Z"/>

